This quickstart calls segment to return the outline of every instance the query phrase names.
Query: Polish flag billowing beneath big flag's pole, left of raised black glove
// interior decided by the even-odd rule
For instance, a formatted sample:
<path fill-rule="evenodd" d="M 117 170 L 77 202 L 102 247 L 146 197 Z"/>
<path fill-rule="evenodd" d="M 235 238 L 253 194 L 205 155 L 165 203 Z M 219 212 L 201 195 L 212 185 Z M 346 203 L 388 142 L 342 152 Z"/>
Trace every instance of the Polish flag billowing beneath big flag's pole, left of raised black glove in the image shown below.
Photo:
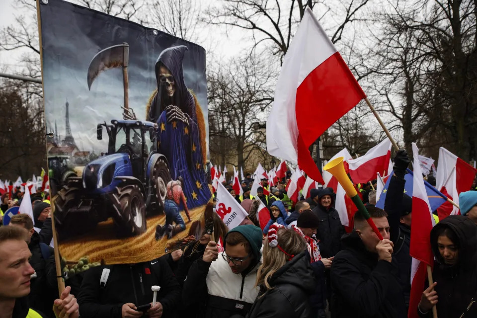
<path fill-rule="evenodd" d="M 354 184 L 366 183 L 376 178 L 376 173 L 388 175 L 391 159 L 391 141 L 386 138 L 371 148 L 366 155 L 349 159 L 349 175 Z"/>

